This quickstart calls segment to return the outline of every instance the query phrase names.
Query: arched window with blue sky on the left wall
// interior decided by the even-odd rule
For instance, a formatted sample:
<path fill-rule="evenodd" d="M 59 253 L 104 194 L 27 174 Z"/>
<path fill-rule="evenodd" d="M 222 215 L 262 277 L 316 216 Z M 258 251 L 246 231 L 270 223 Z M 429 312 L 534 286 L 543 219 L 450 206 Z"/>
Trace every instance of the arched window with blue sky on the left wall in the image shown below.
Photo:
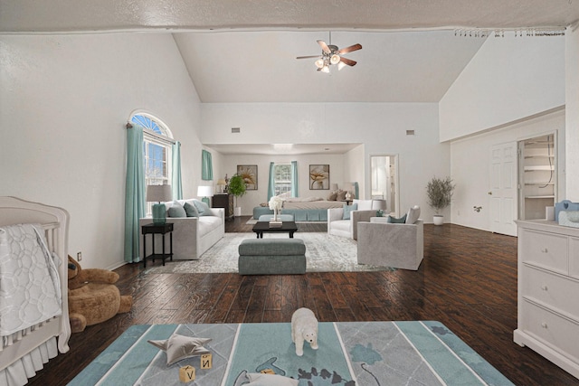
<path fill-rule="evenodd" d="M 144 128 L 145 183 L 171 184 L 171 149 L 175 143 L 171 130 L 159 118 L 145 112 L 134 113 L 130 120 Z"/>

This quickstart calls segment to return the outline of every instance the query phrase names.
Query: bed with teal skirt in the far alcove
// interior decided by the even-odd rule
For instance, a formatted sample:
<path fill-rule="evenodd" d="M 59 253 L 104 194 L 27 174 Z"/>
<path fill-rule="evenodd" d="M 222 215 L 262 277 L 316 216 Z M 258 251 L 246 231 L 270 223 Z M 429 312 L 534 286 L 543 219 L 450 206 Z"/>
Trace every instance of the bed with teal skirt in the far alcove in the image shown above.
<path fill-rule="evenodd" d="M 327 210 L 342 208 L 346 201 L 327 201 L 317 197 L 288 198 L 283 201 L 282 214 L 292 214 L 294 221 L 327 221 Z M 253 219 L 262 214 L 273 214 L 268 205 L 253 208 Z"/>

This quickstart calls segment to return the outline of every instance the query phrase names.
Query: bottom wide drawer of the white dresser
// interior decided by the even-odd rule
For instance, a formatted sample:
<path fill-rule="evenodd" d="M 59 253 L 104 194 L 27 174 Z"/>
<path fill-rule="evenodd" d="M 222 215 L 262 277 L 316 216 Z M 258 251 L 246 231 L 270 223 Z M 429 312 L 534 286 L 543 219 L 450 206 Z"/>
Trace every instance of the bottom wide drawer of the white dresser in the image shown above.
<path fill-rule="evenodd" d="M 518 321 L 520 329 L 579 362 L 578 325 L 525 300 L 519 306 L 522 307 L 522 318 Z"/>

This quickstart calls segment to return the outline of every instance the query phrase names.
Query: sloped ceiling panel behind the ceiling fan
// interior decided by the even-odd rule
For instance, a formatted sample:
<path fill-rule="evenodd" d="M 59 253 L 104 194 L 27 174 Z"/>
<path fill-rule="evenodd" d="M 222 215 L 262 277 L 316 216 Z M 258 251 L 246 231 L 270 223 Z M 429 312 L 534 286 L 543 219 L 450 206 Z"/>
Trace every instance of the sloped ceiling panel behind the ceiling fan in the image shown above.
<path fill-rule="evenodd" d="M 187 70 L 204 102 L 438 102 L 483 39 L 451 31 L 335 32 L 354 67 L 317 71 L 317 40 L 327 32 L 176 33 Z"/>

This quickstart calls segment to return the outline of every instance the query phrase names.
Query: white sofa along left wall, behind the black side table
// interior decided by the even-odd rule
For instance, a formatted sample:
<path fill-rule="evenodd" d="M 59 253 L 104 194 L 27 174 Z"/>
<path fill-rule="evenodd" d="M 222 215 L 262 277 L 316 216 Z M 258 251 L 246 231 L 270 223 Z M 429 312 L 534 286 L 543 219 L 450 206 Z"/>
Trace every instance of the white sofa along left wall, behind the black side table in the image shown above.
<path fill-rule="evenodd" d="M 195 204 L 198 201 L 177 200 L 181 205 L 185 202 Z M 165 203 L 167 212 L 173 202 Z M 173 222 L 173 259 L 191 260 L 199 259 L 207 249 L 210 249 L 217 241 L 223 238 L 225 234 L 225 210 L 223 208 L 209 208 L 211 215 L 199 217 L 168 217 L 167 222 Z M 145 225 L 153 222 L 152 218 L 143 218 L 139 220 L 139 225 Z M 162 235 L 155 235 L 156 253 L 161 253 Z M 147 235 L 147 255 L 152 252 L 152 236 Z M 143 248 L 143 234 L 140 234 L 140 249 Z M 166 252 L 169 252 L 169 237 L 166 236 Z M 141 250 L 142 252 L 142 250 Z"/>

